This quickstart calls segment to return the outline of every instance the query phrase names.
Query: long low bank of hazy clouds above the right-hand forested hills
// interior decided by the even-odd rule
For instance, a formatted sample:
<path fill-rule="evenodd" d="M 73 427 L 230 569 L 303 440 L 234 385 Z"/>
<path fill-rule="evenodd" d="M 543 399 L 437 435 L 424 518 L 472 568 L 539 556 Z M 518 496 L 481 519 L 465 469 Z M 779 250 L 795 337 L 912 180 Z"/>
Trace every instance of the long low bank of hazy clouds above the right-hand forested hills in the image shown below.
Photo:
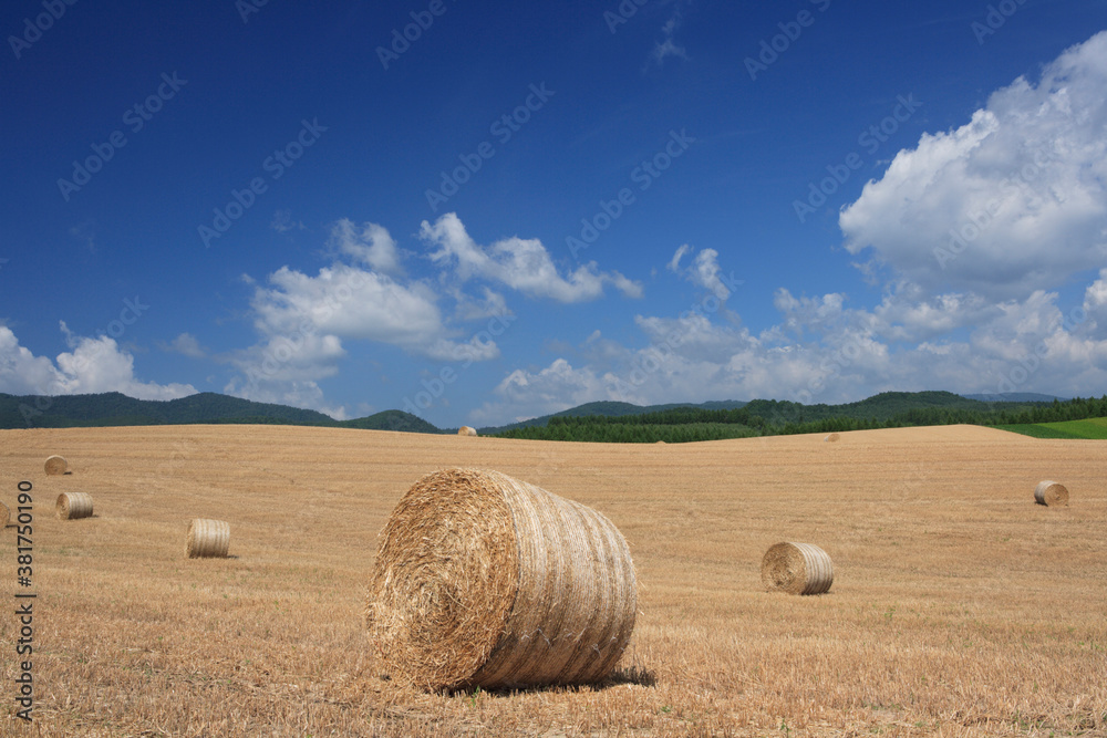
<path fill-rule="evenodd" d="M 923 389 L 1086 396 L 1107 386 L 1107 340 L 1089 330 L 1088 310 L 1107 301 L 1103 280 L 1107 270 L 1088 288 L 1085 309 L 1067 312 L 1056 292 L 914 301 L 917 288 L 908 287 L 871 310 L 848 308 L 842 293 L 797 298 L 782 289 L 780 321 L 759 334 L 706 313 L 640 315 L 644 347 L 593 334 L 571 361 L 513 371 L 472 417 L 492 425 L 601 399 L 845 403 Z"/>

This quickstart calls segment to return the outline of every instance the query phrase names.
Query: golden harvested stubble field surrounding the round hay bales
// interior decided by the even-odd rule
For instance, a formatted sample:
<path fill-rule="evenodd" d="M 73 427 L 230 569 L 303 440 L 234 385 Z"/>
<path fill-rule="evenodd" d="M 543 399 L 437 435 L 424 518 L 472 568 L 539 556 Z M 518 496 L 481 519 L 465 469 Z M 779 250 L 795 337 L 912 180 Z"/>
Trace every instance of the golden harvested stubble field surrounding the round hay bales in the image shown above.
<path fill-rule="evenodd" d="M 592 445 L 273 426 L 0 432 L 33 482 L 34 724 L 12 736 L 1107 735 L 1107 444 L 942 427 Z M 846 443 L 848 441 L 848 443 Z M 80 477 L 48 477 L 64 448 Z M 597 686 L 423 693 L 363 619 L 377 532 L 416 479 L 495 469 L 625 537 L 638 616 Z M 1079 495 L 1028 502 L 1042 479 Z M 95 517 L 58 520 L 63 491 Z M 182 557 L 193 518 L 229 558 Z M 834 558 L 766 592 L 779 541 Z M 13 529 L 0 542 L 15 589 Z"/>

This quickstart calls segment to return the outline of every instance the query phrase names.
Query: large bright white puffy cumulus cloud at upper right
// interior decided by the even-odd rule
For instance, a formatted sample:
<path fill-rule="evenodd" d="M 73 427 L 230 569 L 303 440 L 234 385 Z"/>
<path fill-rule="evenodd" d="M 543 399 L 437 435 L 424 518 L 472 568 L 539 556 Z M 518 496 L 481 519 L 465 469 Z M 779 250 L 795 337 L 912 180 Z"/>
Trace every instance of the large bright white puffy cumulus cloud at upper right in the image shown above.
<path fill-rule="evenodd" d="M 1107 32 L 924 134 L 839 225 L 851 253 L 931 292 L 1053 289 L 1107 261 Z"/>

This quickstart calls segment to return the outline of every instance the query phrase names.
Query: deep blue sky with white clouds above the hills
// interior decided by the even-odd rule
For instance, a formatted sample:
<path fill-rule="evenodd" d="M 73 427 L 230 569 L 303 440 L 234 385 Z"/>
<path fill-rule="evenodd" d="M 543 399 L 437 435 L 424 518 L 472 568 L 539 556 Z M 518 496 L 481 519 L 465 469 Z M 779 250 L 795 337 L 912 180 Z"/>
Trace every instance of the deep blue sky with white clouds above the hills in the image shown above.
<path fill-rule="evenodd" d="M 439 426 L 1104 394 L 1105 31 L 1103 0 L 6 3 L 0 392 Z"/>

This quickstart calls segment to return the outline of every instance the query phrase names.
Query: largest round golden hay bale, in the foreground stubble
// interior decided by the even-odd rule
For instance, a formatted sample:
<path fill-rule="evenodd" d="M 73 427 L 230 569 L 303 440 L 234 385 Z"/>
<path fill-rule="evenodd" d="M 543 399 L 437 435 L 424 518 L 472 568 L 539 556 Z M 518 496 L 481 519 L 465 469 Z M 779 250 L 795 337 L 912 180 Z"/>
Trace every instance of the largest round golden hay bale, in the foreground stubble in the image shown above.
<path fill-rule="evenodd" d="M 381 533 L 366 623 L 423 689 L 602 680 L 634 628 L 630 549 L 606 517 L 497 471 L 423 477 Z"/>

